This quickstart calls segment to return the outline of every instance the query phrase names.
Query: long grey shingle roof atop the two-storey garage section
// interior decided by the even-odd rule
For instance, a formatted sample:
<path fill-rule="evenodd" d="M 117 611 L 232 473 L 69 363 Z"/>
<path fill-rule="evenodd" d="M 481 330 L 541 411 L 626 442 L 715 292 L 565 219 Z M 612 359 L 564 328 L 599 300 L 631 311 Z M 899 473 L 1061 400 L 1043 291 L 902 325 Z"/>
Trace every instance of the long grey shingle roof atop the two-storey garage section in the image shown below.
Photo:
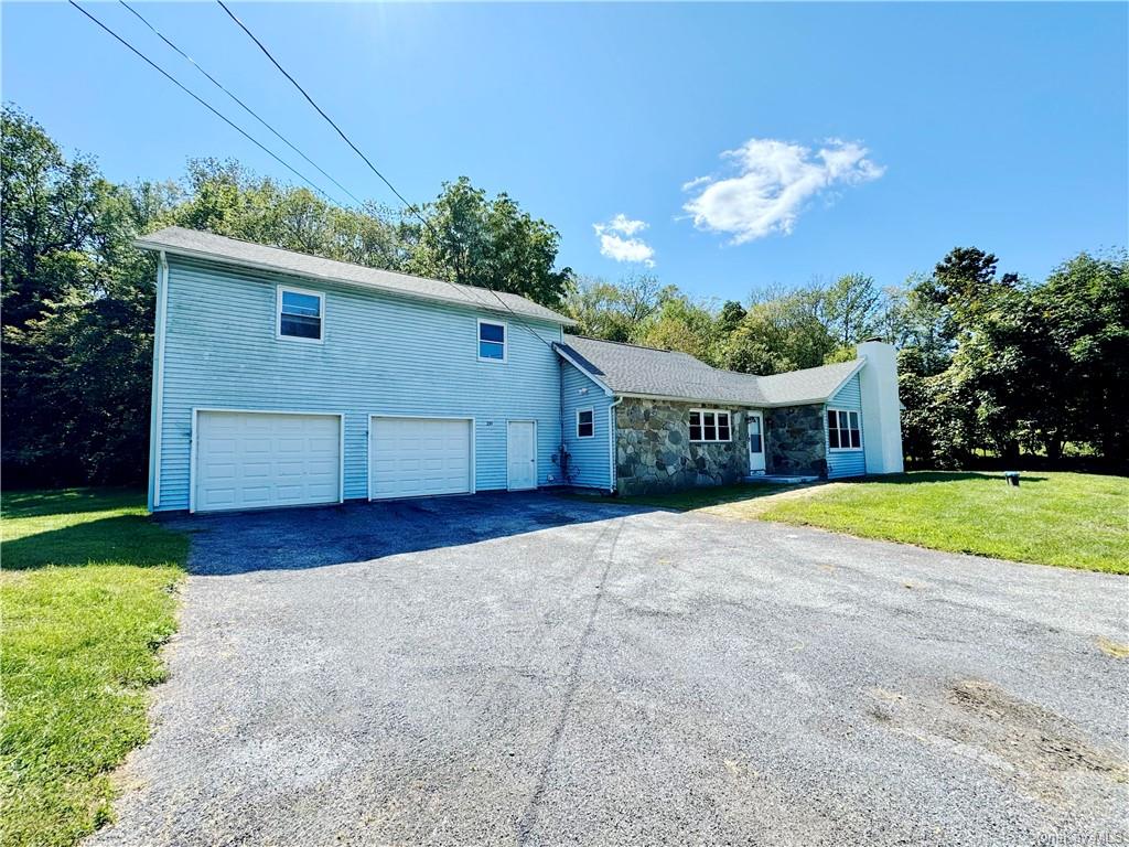
<path fill-rule="evenodd" d="M 290 273 L 309 279 L 376 288 L 427 300 L 455 303 L 488 312 L 513 312 L 522 317 L 539 318 L 570 325 L 576 323 L 564 315 L 545 308 L 516 294 L 498 294 L 502 303 L 484 288 L 461 286 L 438 279 L 412 277 L 406 273 L 382 271 L 349 262 L 321 259 L 308 253 L 269 247 L 264 244 L 228 238 L 183 227 L 167 227 L 138 238 L 134 244 L 142 250 L 164 250 L 176 255 L 193 256 L 219 262 L 230 262 L 259 270 Z"/>

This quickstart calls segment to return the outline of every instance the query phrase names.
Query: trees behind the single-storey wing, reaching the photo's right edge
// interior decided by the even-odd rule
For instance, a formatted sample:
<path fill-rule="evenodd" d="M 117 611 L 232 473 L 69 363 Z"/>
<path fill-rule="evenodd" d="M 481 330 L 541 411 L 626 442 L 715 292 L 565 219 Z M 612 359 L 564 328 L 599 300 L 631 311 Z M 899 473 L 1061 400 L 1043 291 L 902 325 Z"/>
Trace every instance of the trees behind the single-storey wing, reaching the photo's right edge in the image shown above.
<path fill-rule="evenodd" d="M 866 274 L 694 300 L 650 274 L 580 279 L 566 299 L 579 331 L 689 352 L 715 367 L 777 374 L 898 348 L 903 448 L 917 466 L 1021 457 L 1129 469 L 1129 260 L 1079 253 L 1044 280 L 998 273 L 957 247 L 930 274 L 881 287 Z"/>

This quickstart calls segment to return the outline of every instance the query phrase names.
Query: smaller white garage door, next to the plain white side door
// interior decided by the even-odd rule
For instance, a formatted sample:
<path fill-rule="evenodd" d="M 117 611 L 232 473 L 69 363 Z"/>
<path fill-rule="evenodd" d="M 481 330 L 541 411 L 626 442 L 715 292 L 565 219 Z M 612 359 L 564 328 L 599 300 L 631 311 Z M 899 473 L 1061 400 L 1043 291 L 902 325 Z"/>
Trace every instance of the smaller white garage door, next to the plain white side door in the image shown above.
<path fill-rule="evenodd" d="M 423 497 L 471 490 L 471 421 L 373 418 L 369 497 Z"/>

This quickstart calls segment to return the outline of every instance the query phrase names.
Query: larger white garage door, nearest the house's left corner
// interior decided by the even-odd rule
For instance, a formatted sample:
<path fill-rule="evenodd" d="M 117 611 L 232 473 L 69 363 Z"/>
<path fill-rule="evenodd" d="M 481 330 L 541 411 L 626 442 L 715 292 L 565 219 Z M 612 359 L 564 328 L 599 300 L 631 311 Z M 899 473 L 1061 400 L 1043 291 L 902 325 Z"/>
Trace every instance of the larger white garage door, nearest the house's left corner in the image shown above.
<path fill-rule="evenodd" d="M 196 512 L 338 503 L 340 473 L 335 414 L 196 414 Z"/>

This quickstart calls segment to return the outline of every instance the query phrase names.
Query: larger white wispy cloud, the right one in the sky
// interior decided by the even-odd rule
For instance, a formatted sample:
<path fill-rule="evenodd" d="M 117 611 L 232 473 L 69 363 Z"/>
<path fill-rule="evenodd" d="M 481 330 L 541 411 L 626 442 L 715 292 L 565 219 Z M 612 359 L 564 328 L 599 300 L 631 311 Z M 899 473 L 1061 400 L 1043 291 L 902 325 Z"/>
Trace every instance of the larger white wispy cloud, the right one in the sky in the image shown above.
<path fill-rule="evenodd" d="M 751 138 L 721 157 L 734 175 L 700 176 L 683 191 L 698 190 L 685 209 L 699 229 L 733 235 L 734 244 L 773 233 L 789 235 L 806 203 L 835 186 L 858 185 L 882 176 L 886 168 L 866 158 L 854 141 L 828 139 L 815 151 L 769 138 Z"/>

